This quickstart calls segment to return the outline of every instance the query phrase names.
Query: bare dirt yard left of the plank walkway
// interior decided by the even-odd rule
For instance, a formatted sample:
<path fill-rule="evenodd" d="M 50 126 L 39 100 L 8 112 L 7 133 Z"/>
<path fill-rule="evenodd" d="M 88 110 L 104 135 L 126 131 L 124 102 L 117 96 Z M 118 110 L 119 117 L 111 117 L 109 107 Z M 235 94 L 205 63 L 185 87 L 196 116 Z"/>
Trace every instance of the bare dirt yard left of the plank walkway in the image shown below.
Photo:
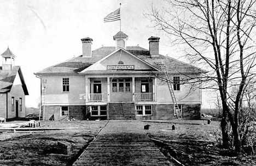
<path fill-rule="evenodd" d="M 72 165 L 106 123 L 107 121 L 45 121 L 40 124 L 45 128 L 78 129 L 0 133 L 0 165 Z M 63 154 L 57 146 L 58 141 L 71 145 L 71 153 Z"/>

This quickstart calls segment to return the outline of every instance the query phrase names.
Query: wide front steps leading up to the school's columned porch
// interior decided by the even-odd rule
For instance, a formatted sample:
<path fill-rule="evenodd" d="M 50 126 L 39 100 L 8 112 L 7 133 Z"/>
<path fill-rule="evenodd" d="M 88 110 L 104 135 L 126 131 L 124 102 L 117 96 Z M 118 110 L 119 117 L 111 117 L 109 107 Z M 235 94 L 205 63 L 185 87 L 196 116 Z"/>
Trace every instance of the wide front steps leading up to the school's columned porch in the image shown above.
<path fill-rule="evenodd" d="M 134 103 L 108 103 L 108 119 L 136 119 Z"/>

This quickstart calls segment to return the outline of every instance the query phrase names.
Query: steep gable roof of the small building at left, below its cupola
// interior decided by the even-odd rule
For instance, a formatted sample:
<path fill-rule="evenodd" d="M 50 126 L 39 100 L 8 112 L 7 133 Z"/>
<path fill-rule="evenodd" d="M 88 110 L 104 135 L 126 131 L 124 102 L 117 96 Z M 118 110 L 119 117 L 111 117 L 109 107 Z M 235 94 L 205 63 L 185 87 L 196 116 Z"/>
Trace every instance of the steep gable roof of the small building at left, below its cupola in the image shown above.
<path fill-rule="evenodd" d="M 0 67 L 0 93 L 10 92 L 17 74 L 19 74 L 20 76 L 24 94 L 28 95 L 27 86 L 25 84 L 25 80 L 22 75 L 20 66 L 13 66 L 13 69 L 11 71 L 2 70 L 2 67 Z"/>

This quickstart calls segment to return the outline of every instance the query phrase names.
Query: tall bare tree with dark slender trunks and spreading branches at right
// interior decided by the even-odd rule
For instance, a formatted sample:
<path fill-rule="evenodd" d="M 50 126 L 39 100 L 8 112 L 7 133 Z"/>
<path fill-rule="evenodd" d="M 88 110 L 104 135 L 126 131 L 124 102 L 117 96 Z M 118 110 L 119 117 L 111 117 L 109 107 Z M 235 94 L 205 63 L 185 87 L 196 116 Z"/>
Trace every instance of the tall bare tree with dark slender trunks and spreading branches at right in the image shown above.
<path fill-rule="evenodd" d="M 202 88 L 219 91 L 223 146 L 230 145 L 230 123 L 235 150 L 240 152 L 239 114 L 255 67 L 255 1 L 166 0 L 163 4 L 161 8 L 153 4 L 149 18 L 170 35 L 172 44 L 183 47 L 188 60 L 208 71 L 200 81 L 205 83 Z M 230 93 L 234 86 L 236 93 Z"/>

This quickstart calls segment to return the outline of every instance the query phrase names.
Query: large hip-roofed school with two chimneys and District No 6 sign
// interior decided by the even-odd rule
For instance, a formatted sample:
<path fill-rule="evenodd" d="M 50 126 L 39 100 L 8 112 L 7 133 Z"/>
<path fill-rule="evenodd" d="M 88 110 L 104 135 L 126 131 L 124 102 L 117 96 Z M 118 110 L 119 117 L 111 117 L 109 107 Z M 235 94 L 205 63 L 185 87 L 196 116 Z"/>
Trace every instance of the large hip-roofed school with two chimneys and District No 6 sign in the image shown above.
<path fill-rule="evenodd" d="M 183 119 L 200 119 L 201 90 L 188 78 L 204 71 L 159 54 L 159 37 L 148 39 L 149 49 L 127 46 L 121 31 L 115 46 L 94 51 L 91 38 L 81 40 L 81 56 L 35 73 L 45 120 L 177 119 L 168 83 Z"/>

